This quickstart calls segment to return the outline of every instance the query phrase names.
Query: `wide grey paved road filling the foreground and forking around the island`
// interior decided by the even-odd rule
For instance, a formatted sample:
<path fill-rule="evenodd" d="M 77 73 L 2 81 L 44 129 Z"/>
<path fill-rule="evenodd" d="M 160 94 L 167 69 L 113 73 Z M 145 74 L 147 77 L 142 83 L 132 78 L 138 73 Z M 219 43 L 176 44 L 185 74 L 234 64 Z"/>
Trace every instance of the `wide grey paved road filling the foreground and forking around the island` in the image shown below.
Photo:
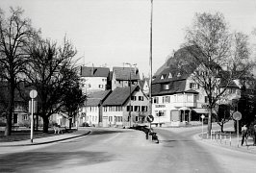
<path fill-rule="evenodd" d="M 244 166 L 242 172 L 252 171 L 255 155 L 208 146 L 192 137 L 200 128 L 157 131 L 160 144 L 145 140 L 138 131 L 93 129 L 89 136 L 76 139 L 14 147 L 0 156 L 0 172 L 216 173 L 238 172 Z"/>

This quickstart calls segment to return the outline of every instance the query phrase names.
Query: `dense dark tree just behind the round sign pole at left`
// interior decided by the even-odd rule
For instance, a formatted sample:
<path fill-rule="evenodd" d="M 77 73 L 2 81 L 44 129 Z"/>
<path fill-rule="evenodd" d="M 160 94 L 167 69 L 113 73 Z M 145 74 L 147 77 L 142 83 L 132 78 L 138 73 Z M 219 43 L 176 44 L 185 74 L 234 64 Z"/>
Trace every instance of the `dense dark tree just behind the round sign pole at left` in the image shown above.
<path fill-rule="evenodd" d="M 64 37 L 62 46 L 38 38 L 29 49 L 31 73 L 27 81 L 38 90 L 38 115 L 43 119 L 43 132 L 48 132 L 49 117 L 61 111 L 66 83 L 70 75 L 66 70 L 76 55 L 73 45 Z"/>

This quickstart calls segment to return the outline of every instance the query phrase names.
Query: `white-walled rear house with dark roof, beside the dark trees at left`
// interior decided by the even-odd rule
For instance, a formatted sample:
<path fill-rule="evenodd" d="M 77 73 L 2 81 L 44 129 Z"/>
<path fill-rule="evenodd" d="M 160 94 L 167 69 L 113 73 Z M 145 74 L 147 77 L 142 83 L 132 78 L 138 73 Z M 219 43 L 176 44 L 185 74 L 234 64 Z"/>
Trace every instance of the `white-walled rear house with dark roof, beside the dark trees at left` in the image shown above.
<path fill-rule="evenodd" d="M 80 80 L 83 93 L 111 88 L 110 69 L 107 67 L 81 66 Z"/>

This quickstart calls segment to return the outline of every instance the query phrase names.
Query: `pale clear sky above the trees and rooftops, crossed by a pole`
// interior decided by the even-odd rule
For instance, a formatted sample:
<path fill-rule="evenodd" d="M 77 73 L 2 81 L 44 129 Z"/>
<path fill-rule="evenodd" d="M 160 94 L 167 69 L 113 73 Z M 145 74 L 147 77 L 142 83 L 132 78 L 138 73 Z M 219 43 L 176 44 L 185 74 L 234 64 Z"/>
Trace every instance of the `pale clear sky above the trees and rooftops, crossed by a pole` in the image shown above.
<path fill-rule="evenodd" d="M 76 47 L 76 59 L 87 66 L 137 64 L 150 74 L 151 0 L 1 0 L 0 8 L 21 7 L 42 37 Z M 231 31 L 251 36 L 256 28 L 255 0 L 154 0 L 153 73 L 184 42 L 195 12 L 222 12 Z"/>

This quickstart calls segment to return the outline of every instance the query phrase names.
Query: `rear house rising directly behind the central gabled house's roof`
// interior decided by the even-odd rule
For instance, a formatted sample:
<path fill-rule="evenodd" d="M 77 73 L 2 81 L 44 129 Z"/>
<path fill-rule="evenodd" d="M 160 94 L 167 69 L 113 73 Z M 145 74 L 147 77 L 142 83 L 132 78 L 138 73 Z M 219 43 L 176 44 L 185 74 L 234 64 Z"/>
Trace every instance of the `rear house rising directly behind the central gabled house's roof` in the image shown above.
<path fill-rule="evenodd" d="M 134 67 L 113 67 L 112 90 L 116 87 L 137 86 L 140 81 L 138 68 Z"/>

